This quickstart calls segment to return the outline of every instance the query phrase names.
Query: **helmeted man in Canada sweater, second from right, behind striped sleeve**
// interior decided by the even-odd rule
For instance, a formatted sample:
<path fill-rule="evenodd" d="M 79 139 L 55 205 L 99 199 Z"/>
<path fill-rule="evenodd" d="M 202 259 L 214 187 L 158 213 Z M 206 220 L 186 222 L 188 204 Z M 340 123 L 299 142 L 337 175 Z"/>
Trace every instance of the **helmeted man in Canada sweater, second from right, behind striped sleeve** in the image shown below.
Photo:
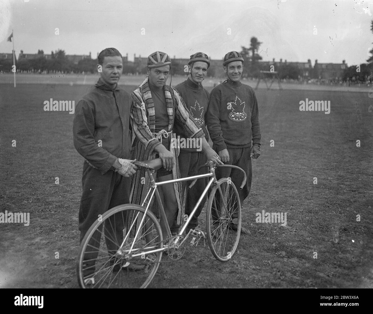
<path fill-rule="evenodd" d="M 205 125 L 207 107 L 209 106 L 209 92 L 203 88 L 201 83 L 207 75 L 207 69 L 209 66 L 210 59 L 207 54 L 202 52 L 192 54 L 188 62 L 188 79 L 175 86 L 175 90 L 179 92 L 185 101 L 186 107 L 193 115 L 194 122 L 203 130 L 206 141 L 209 141 L 209 135 L 207 134 Z M 181 139 L 188 138 L 188 135 L 185 134 L 182 126 L 175 125 L 174 131 L 176 136 L 180 136 Z M 205 164 L 206 161 L 207 158 L 201 151 L 201 147 L 180 147 L 179 167 L 181 178 L 206 173 L 206 168 L 201 169 L 201 172 L 198 173 L 198 167 Z M 197 204 L 198 199 L 206 188 L 207 178 L 198 179 L 191 190 L 186 188 L 189 183 L 190 181 L 183 182 L 183 191 L 186 190 L 185 214 L 188 216 L 191 214 L 195 204 Z M 206 199 L 207 197 L 204 198 L 200 206 L 197 208 L 197 211 L 186 229 L 187 232 L 189 229 L 194 229 L 198 226 L 198 216 L 202 211 Z"/>

